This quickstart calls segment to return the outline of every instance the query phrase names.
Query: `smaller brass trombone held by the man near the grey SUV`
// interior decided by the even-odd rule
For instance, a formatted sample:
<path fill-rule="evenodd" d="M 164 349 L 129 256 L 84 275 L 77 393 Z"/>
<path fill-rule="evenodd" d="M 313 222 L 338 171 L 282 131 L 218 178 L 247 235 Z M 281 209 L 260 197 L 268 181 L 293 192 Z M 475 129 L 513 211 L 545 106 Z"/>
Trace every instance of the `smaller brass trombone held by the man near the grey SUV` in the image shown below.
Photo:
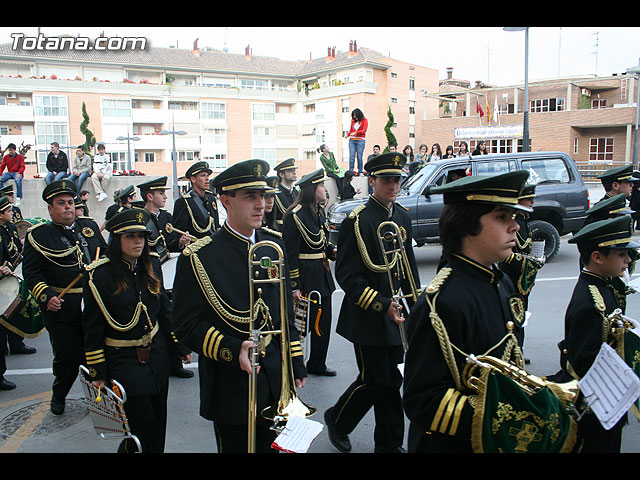
<path fill-rule="evenodd" d="M 391 227 L 391 230 L 383 232 L 382 229 L 384 227 Z M 404 241 L 402 239 L 402 231 L 400 230 L 400 227 L 397 223 L 390 220 L 382 222 L 380 225 L 378 225 L 377 234 L 378 241 L 380 242 L 380 250 L 382 252 L 384 265 L 386 267 L 387 276 L 389 279 L 389 288 L 391 289 L 393 301 L 396 302 L 399 306 L 402 305 L 400 303 L 401 300 L 405 298 L 413 298 L 413 301 L 416 302 L 418 300 L 418 288 L 413 278 L 413 272 L 411 271 L 411 265 L 409 264 L 407 252 L 404 248 Z M 387 244 L 391 244 L 391 247 L 387 248 Z M 406 278 L 409 281 L 411 293 L 403 295 L 401 293 L 400 287 L 396 289 L 393 282 L 394 277 L 399 282 Z M 404 306 L 408 311 L 407 305 L 404 304 Z M 400 329 L 402 347 L 404 348 L 404 351 L 406 353 L 407 349 L 409 348 L 409 343 L 407 340 L 404 323 L 400 323 L 398 327 Z"/>

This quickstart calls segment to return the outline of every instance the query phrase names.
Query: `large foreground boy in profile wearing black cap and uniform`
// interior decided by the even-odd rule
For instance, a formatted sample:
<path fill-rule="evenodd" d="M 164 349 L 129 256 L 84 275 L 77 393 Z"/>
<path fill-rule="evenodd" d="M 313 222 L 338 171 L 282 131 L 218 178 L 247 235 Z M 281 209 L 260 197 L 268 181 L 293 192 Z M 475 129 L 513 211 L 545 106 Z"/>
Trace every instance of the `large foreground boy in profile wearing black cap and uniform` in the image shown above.
<path fill-rule="evenodd" d="M 494 266 L 516 243 L 516 210 L 529 174 L 464 177 L 443 193 L 439 228 L 447 263 L 411 310 L 403 404 L 409 452 L 472 452 L 473 400 L 460 381 L 467 355 L 513 360 L 523 368 L 516 335 L 522 300 Z"/>

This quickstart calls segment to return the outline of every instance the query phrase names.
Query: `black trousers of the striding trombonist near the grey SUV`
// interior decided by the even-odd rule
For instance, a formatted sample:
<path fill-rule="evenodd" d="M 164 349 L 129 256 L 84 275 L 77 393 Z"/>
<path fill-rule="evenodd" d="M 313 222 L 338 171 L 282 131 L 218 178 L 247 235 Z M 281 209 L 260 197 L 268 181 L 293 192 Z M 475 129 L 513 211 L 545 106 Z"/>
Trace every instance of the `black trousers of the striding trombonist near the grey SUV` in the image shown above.
<path fill-rule="evenodd" d="M 338 434 L 348 435 L 373 407 L 374 442 L 377 448 L 392 449 L 404 440 L 402 408 L 402 346 L 381 347 L 354 344 L 358 376 L 333 407 Z"/>

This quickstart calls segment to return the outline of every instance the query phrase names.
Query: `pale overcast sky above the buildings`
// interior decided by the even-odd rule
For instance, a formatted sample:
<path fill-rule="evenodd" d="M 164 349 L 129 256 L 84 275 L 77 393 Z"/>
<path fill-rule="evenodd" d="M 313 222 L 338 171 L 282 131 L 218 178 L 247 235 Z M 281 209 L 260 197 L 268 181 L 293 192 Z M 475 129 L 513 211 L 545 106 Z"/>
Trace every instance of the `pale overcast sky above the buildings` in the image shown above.
<path fill-rule="evenodd" d="M 0 27 L 0 42 L 11 33 L 36 36 L 38 27 Z M 383 55 L 439 70 L 454 77 L 514 85 L 524 82 L 524 32 L 502 27 L 41 27 L 45 37 L 72 34 L 95 38 L 144 36 L 156 47 L 209 46 L 287 60 L 324 57 L 327 47 L 348 51 L 349 42 Z M 529 80 L 570 75 L 622 73 L 640 62 L 639 27 L 531 27 Z"/>

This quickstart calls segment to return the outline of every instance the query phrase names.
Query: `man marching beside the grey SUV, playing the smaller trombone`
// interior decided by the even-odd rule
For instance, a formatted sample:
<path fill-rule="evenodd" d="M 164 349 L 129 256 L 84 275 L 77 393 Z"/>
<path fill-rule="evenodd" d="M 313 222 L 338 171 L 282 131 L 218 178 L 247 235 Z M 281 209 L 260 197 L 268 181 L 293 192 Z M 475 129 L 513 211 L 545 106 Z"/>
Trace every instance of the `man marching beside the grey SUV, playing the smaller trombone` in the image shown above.
<path fill-rule="evenodd" d="M 408 274 L 420 285 L 411 245 L 411 218 L 395 203 L 406 157 L 382 154 L 369 160 L 365 170 L 373 194 L 356 208 L 340 226 L 336 280 L 344 290 L 336 332 L 353 343 L 358 376 L 325 412 L 331 443 L 341 452 L 351 451 L 349 433 L 373 407 L 376 452 L 401 452 L 404 414 L 400 387 L 403 362 L 400 328 L 404 317 L 393 296 L 378 236 L 378 226 L 387 220 L 397 224 L 407 252 L 404 278 L 395 278 L 403 293 L 410 293 Z M 386 233 L 387 230 L 382 231 Z M 408 271 L 410 270 L 410 272 Z M 415 299 L 414 299 L 415 300 Z M 409 301 L 409 306 L 413 301 Z"/>

